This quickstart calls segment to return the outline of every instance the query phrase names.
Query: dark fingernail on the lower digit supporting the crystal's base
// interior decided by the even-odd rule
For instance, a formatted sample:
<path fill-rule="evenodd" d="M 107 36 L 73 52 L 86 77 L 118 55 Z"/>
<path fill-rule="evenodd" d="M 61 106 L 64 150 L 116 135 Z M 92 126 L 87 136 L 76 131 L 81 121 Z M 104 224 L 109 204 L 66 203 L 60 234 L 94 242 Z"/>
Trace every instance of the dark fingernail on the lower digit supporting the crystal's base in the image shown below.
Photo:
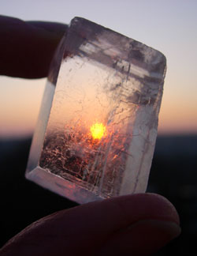
<path fill-rule="evenodd" d="M 171 221 L 139 220 L 113 235 L 103 245 L 103 255 L 149 255 L 180 235 L 180 227 Z M 113 252 L 113 254 L 111 254 Z"/>

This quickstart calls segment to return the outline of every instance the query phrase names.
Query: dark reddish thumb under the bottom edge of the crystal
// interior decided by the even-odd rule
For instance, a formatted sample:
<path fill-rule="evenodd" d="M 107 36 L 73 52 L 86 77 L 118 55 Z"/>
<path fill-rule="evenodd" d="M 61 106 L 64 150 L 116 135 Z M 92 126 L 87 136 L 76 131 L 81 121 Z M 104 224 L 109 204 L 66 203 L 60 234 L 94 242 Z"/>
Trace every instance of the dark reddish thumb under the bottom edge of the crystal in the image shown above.
<path fill-rule="evenodd" d="M 9 240 L 9 255 L 149 255 L 180 234 L 173 205 L 157 194 L 95 201 L 38 220 Z"/>

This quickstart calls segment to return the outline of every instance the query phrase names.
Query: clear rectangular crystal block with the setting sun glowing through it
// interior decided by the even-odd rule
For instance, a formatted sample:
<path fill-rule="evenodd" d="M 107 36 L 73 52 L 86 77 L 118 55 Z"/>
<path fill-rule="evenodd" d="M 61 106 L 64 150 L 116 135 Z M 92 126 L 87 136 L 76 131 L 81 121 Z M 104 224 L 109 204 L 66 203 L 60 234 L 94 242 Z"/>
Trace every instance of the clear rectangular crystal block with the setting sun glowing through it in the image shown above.
<path fill-rule="evenodd" d="M 144 192 L 165 56 L 75 17 L 43 96 L 27 179 L 79 203 Z"/>

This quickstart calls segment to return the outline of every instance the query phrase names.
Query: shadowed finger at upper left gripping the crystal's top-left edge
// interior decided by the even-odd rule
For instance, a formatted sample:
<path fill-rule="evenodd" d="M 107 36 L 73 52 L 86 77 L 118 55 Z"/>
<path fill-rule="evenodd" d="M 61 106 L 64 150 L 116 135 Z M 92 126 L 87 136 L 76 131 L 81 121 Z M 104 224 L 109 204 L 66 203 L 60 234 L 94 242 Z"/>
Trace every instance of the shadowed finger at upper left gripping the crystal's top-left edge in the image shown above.
<path fill-rule="evenodd" d="M 0 75 L 46 77 L 66 24 L 0 16 Z"/>

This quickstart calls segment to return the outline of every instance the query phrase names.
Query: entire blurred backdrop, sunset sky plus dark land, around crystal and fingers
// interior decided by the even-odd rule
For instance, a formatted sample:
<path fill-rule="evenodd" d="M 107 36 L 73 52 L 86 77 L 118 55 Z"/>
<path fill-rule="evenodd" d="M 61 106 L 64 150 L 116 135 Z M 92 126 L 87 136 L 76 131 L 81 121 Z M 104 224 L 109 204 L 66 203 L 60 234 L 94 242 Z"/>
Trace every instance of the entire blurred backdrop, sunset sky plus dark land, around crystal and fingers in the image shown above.
<path fill-rule="evenodd" d="M 0 12 L 65 24 L 85 17 L 162 51 L 168 68 L 148 191 L 173 202 L 182 235 L 155 255 L 196 255 L 197 1 L 2 0 Z M 0 77 L 1 245 L 32 221 L 76 205 L 24 179 L 45 84 Z"/>

